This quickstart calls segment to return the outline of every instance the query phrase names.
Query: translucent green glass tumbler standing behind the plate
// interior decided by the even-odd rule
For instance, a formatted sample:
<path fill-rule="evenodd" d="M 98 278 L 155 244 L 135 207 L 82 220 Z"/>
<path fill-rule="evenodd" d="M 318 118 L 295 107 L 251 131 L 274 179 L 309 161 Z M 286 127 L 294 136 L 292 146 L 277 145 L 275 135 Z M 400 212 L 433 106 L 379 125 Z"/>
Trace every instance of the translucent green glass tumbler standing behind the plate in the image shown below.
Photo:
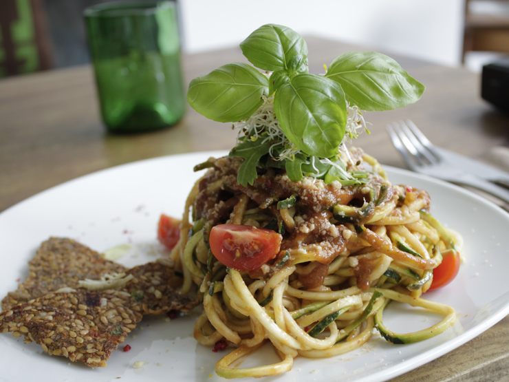
<path fill-rule="evenodd" d="M 140 132 L 177 123 L 186 103 L 175 3 L 102 3 L 84 17 L 107 129 Z"/>

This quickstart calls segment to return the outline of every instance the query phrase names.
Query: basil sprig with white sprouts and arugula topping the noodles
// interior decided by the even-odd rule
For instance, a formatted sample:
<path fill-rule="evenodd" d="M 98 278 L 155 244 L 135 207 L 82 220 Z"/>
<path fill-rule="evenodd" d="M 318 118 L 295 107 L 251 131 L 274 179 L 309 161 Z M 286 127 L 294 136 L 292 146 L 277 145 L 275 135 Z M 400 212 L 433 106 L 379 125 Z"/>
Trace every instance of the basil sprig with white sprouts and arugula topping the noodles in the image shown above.
<path fill-rule="evenodd" d="M 254 67 L 232 63 L 199 76 L 187 98 L 197 112 L 219 122 L 247 124 L 263 109 L 230 152 L 246 159 L 237 176 L 243 186 L 262 167 L 285 168 L 294 181 L 313 176 L 327 183 L 365 182 L 366 174 L 346 171 L 340 156 L 345 134 L 356 138 L 359 109 L 396 109 L 424 92 L 396 61 L 376 52 L 348 52 L 325 75 L 310 74 L 304 39 L 282 25 L 261 26 L 240 47 Z"/>

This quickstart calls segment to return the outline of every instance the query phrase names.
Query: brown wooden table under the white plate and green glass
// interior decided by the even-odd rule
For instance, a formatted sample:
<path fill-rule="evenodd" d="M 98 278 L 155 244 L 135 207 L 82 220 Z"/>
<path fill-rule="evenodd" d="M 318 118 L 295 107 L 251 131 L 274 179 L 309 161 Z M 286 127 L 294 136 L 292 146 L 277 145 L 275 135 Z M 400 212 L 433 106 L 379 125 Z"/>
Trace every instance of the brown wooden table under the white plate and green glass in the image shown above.
<path fill-rule="evenodd" d="M 308 37 L 310 72 L 338 54 L 365 48 Z M 386 52 L 387 53 L 387 52 Z M 426 85 L 404 109 L 367 113 L 371 136 L 357 145 L 382 164 L 404 167 L 385 125 L 411 118 L 431 140 L 472 158 L 508 145 L 509 117 L 479 97 L 479 76 L 390 54 Z M 239 48 L 184 56 L 185 81 L 234 61 Z M 235 132 L 193 109 L 179 124 L 148 134 L 108 134 L 101 121 L 91 67 L 74 67 L 0 81 L 0 211 L 66 180 L 127 162 L 190 151 L 230 149 Z M 394 381 L 497 380 L 509 372 L 509 318 L 439 359 Z"/>

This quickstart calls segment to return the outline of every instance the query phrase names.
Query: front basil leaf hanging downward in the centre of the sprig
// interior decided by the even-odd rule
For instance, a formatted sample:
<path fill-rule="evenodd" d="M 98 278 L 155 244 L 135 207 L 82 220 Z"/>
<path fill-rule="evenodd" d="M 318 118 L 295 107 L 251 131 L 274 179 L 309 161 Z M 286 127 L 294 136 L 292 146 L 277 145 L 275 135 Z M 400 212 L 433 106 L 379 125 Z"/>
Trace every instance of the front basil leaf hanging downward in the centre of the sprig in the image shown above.
<path fill-rule="evenodd" d="M 331 158 L 345 136 L 347 103 L 340 85 L 299 74 L 277 89 L 274 111 L 285 136 L 310 156 Z"/>

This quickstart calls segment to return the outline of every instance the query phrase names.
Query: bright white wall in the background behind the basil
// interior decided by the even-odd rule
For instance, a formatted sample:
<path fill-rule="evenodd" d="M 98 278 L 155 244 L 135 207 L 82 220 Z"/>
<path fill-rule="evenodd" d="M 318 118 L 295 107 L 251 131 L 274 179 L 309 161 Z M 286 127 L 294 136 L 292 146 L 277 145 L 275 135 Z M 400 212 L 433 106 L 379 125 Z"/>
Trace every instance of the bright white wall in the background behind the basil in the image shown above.
<path fill-rule="evenodd" d="M 180 0 L 184 50 L 238 45 L 266 23 L 459 65 L 464 0 Z"/>

